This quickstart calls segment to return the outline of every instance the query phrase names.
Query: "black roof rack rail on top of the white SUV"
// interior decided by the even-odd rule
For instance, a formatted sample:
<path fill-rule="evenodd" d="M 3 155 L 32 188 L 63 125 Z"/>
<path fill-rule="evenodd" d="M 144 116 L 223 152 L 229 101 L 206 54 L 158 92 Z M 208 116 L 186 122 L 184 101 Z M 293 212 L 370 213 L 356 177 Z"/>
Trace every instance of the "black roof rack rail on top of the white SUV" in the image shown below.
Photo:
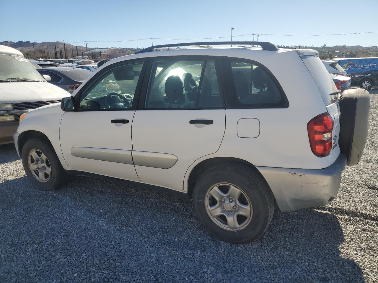
<path fill-rule="evenodd" d="M 153 51 L 156 48 L 166 48 L 166 47 L 178 47 L 178 46 L 203 46 L 203 45 L 259 45 L 262 47 L 262 50 L 267 51 L 277 51 L 279 50 L 276 45 L 274 45 L 271 42 L 265 42 L 265 41 L 215 41 L 215 42 L 190 42 L 190 43 L 170 43 L 170 44 L 163 44 L 163 45 L 155 45 L 150 46 L 147 48 L 144 48 L 142 50 L 139 50 L 138 52 L 135 52 L 135 54 L 138 53 L 145 53 Z"/>

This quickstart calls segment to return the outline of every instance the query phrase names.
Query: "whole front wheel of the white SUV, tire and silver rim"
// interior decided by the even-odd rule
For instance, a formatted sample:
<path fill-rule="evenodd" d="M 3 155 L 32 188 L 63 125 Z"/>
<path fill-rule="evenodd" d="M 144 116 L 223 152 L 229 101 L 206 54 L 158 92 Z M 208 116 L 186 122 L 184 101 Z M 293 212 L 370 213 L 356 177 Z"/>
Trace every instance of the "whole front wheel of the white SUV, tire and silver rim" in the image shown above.
<path fill-rule="evenodd" d="M 21 153 L 22 165 L 31 183 L 44 191 L 58 189 L 67 179 L 54 149 L 39 138 L 26 141 Z"/>

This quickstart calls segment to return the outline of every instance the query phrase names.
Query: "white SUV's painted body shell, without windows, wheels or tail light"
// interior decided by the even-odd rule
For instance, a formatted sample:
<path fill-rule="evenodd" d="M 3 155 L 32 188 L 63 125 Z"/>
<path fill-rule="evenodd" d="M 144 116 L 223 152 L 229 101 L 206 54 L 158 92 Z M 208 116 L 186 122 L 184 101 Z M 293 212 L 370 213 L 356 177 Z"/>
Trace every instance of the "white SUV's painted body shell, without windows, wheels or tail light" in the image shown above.
<path fill-rule="evenodd" d="M 304 58 L 299 56 L 299 52 Z M 316 51 L 307 49 L 262 51 L 260 48 L 203 48 L 115 58 L 101 66 L 94 75 L 101 74 L 103 69 L 113 64 L 146 57 L 209 55 L 254 60 L 274 74 L 290 106 L 271 109 L 63 112 L 60 105 L 56 104 L 28 112 L 17 132 L 19 135 L 26 131 L 40 131 L 46 135 L 63 168 L 68 171 L 115 177 L 187 193 L 189 176 L 201 161 L 237 158 L 256 166 L 270 185 L 281 210 L 307 207 L 314 198 L 314 204 L 326 204 L 337 193 L 338 186 L 329 191 L 313 185 L 317 189 L 309 186 L 304 192 L 300 182 L 294 184 L 296 180 L 290 174 L 283 174 L 283 168 L 291 168 L 286 170 L 290 172 L 317 172 L 316 169 L 331 166 L 340 155 L 336 144 L 329 155 L 319 158 L 311 152 L 308 141 L 307 122 L 324 112 L 334 118 L 332 136 L 338 137 L 339 134 L 338 105 L 325 103 L 319 94 L 323 92 L 323 95 L 329 96 L 336 87 L 316 54 Z M 307 68 L 315 65 L 317 74 L 311 75 Z M 290 72 L 282 71 L 282 66 L 291 66 Z M 79 86 L 74 94 L 85 88 L 94 75 Z M 323 80 L 322 85 L 316 85 L 314 75 Z M 293 85 L 296 87 L 293 88 Z M 208 118 L 214 120 L 212 127 L 188 123 L 192 119 Z M 130 123 L 109 123 L 113 119 L 127 119 Z M 129 154 L 134 163 L 104 161 L 100 160 L 101 157 L 97 160 L 77 157 L 74 152 L 80 150 L 78 148 L 105 148 L 108 149 L 108 155 Z M 160 158 L 161 164 L 144 164 L 146 159 L 154 158 Z M 169 163 L 170 158 L 176 160 L 174 164 L 163 168 L 164 160 Z M 281 177 L 277 178 L 277 175 Z M 290 190 L 286 188 L 289 183 Z M 319 193 L 323 196 L 319 197 Z M 297 198 L 303 198 L 303 203 L 296 202 Z"/>

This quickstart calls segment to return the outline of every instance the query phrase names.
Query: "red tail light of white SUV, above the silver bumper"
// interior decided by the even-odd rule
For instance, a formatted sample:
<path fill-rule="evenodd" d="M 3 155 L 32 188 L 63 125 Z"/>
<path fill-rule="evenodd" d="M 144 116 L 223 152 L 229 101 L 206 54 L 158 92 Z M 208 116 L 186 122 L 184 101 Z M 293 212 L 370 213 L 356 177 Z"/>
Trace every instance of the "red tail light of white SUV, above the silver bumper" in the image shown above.
<path fill-rule="evenodd" d="M 308 139 L 312 152 L 318 157 L 331 153 L 333 119 L 327 112 L 316 116 L 307 123 Z"/>

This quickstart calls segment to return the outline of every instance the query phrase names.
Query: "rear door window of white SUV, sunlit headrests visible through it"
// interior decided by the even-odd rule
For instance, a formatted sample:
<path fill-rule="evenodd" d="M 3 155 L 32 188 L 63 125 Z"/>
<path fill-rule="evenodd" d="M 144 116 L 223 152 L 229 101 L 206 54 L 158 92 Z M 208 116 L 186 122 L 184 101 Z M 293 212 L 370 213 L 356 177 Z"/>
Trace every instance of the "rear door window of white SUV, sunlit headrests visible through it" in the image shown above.
<path fill-rule="evenodd" d="M 156 60 L 145 108 L 222 107 L 213 60 Z"/>

